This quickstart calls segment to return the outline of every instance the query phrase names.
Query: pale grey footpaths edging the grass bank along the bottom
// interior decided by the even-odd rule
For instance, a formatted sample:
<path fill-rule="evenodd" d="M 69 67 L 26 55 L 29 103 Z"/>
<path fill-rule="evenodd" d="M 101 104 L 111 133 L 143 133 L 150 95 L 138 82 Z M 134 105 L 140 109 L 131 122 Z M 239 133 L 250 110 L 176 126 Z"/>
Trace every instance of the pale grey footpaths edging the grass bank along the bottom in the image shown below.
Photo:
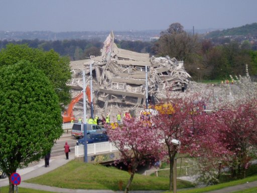
<path fill-rule="evenodd" d="M 22 182 L 19 185 L 19 187 L 25 187 L 25 188 L 31 188 L 35 190 L 45 190 L 45 191 L 52 191 L 52 192 L 63 192 L 63 193 L 120 193 L 123 191 L 112 191 L 112 190 L 91 190 L 91 189 L 68 189 L 68 188 L 60 188 L 60 187 L 53 187 L 53 186 L 46 186 L 46 185 L 40 185 L 40 184 L 33 184 L 33 183 L 27 183 L 24 182 L 27 179 L 37 177 L 39 175 L 45 174 L 49 171 L 52 171 L 70 160 L 74 159 L 74 152 L 71 152 L 69 154 L 69 160 L 66 160 L 65 154 L 60 156 L 56 156 L 54 158 L 50 159 L 50 167 L 45 167 L 45 161 L 44 159 L 40 160 L 37 163 L 31 164 L 29 167 L 24 168 L 24 169 L 18 169 L 17 173 L 21 175 Z M 0 179 L 0 187 L 2 186 L 7 186 L 9 185 L 8 178 L 6 179 Z M 238 190 L 243 190 L 247 189 L 250 187 L 257 187 L 257 181 L 249 182 L 249 183 L 244 183 L 244 184 L 239 184 L 235 186 L 230 186 L 226 188 L 222 188 L 219 190 L 214 190 L 214 191 L 208 191 L 208 193 L 227 193 L 227 192 L 233 192 L 233 191 L 238 191 Z M 179 191 L 179 190 L 178 190 Z M 146 192 L 151 192 L 151 193 L 159 193 L 159 192 L 165 192 L 165 191 L 130 191 L 131 193 L 146 193 Z"/>

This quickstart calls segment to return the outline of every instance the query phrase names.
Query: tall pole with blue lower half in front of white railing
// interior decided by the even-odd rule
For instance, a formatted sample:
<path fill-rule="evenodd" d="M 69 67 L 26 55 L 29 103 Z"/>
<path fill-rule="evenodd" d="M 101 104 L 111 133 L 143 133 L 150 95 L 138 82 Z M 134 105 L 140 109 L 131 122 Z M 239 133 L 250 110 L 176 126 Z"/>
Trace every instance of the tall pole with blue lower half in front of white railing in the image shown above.
<path fill-rule="evenodd" d="M 84 162 L 87 163 L 87 139 L 86 139 L 86 80 L 85 80 L 85 70 L 83 70 L 83 127 L 84 127 Z"/>

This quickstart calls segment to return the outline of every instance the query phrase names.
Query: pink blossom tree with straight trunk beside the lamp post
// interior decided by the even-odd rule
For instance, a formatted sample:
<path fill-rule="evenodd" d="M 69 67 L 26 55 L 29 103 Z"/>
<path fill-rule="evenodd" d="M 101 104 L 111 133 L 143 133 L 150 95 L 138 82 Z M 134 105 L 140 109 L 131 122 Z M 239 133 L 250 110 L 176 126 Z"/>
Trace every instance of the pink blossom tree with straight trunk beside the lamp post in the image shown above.
<path fill-rule="evenodd" d="M 170 105 L 166 107 L 170 108 Z M 192 116 L 198 115 L 200 109 L 202 109 L 202 107 L 195 106 L 191 100 L 186 99 L 176 100 L 176 104 L 174 103 L 172 107 L 172 114 L 165 113 L 171 111 L 170 109 L 163 107 L 163 109 L 159 111 L 160 113 L 158 115 L 152 117 L 152 123 L 155 125 L 161 138 L 164 140 L 164 143 L 167 146 L 167 154 L 170 162 L 170 190 L 172 190 L 173 187 L 174 158 L 180 147 L 172 144 L 172 140 L 176 139 L 181 142 L 181 150 L 190 144 L 194 135 L 193 129 L 189 126 L 189 123 L 192 125 L 192 122 L 189 122 L 189 120 Z"/>

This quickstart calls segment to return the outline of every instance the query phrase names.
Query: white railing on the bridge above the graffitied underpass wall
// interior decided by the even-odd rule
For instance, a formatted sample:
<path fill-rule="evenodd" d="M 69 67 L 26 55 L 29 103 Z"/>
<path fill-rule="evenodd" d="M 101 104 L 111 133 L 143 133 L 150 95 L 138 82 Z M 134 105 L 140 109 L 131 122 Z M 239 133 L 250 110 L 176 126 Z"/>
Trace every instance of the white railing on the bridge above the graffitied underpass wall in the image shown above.
<path fill-rule="evenodd" d="M 87 155 L 117 151 L 110 142 L 87 144 Z M 84 145 L 75 146 L 75 157 L 84 156 Z"/>

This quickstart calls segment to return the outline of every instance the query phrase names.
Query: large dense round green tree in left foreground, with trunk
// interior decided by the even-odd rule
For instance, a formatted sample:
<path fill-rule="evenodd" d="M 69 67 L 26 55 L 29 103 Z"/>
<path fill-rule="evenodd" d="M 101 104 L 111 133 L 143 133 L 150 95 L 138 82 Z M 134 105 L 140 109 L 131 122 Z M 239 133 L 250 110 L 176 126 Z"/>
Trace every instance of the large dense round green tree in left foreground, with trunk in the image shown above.
<path fill-rule="evenodd" d="M 29 61 L 0 69 L 0 167 L 9 177 L 51 151 L 62 135 L 58 96 L 43 73 Z"/>

